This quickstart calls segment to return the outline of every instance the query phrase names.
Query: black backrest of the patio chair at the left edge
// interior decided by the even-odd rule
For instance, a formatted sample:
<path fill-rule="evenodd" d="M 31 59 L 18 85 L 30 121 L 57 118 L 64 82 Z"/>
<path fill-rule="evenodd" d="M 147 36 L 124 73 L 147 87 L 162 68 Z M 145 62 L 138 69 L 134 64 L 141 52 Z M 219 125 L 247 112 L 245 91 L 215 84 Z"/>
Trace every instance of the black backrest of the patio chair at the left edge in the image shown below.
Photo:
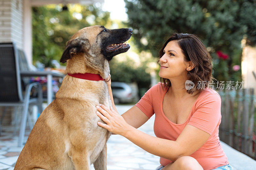
<path fill-rule="evenodd" d="M 0 102 L 22 101 L 18 50 L 15 43 L 0 43 Z"/>

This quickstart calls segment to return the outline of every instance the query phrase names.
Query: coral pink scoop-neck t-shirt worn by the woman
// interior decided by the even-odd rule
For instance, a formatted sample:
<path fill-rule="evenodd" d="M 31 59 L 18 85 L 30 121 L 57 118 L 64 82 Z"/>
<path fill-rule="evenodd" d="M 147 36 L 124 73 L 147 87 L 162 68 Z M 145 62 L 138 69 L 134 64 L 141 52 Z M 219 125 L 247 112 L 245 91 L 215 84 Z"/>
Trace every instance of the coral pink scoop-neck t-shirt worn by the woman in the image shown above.
<path fill-rule="evenodd" d="M 211 136 L 196 152 L 189 155 L 195 158 L 204 170 L 215 169 L 228 165 L 228 158 L 220 145 L 219 125 L 221 121 L 220 95 L 213 89 L 205 88 L 197 97 L 191 108 L 186 122 L 176 124 L 171 122 L 163 112 L 163 100 L 167 90 L 161 87 L 159 82 L 151 87 L 140 101 L 135 104 L 150 118 L 155 115 L 154 132 L 156 137 L 176 141 L 181 131 L 187 124 L 204 130 Z M 166 166 L 171 160 L 160 157 L 160 164 Z"/>

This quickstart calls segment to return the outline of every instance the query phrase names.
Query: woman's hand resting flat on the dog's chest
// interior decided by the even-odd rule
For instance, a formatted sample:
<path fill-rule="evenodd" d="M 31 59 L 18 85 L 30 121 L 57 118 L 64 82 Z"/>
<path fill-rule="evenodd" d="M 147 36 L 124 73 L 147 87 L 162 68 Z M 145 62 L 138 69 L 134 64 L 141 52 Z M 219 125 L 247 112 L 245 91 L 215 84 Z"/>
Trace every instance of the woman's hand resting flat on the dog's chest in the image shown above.
<path fill-rule="evenodd" d="M 106 124 L 98 122 L 98 125 L 108 131 L 124 136 L 130 129 L 130 125 L 125 122 L 124 118 L 119 115 L 112 107 L 110 109 L 102 104 L 96 106 L 96 115 L 100 117 Z"/>

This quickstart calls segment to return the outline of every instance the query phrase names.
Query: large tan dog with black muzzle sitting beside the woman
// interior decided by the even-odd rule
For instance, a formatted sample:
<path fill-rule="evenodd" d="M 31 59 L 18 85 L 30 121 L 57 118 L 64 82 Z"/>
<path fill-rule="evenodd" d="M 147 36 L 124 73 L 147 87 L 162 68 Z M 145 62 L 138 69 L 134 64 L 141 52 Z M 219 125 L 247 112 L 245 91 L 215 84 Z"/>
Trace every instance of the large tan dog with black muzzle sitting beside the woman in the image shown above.
<path fill-rule="evenodd" d="M 107 79 L 110 60 L 130 48 L 124 42 L 131 35 L 128 28 L 79 30 L 60 59 L 67 61 L 65 73 L 92 73 Z M 110 132 L 97 125 L 101 119 L 95 106 L 112 106 L 107 84 L 67 75 L 55 97 L 37 119 L 14 169 L 89 170 L 93 163 L 96 170 L 106 170 Z"/>

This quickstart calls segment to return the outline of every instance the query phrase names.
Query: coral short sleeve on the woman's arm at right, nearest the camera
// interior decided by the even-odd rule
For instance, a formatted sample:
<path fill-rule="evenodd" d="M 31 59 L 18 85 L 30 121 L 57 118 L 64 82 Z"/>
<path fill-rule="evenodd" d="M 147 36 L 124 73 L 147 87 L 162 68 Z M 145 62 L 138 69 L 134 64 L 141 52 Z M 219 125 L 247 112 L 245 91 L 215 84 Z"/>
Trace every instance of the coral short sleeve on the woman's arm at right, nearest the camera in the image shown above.
<path fill-rule="evenodd" d="M 220 95 L 218 93 L 208 94 L 199 101 L 198 107 L 188 124 L 212 135 L 221 119 L 220 107 Z"/>

